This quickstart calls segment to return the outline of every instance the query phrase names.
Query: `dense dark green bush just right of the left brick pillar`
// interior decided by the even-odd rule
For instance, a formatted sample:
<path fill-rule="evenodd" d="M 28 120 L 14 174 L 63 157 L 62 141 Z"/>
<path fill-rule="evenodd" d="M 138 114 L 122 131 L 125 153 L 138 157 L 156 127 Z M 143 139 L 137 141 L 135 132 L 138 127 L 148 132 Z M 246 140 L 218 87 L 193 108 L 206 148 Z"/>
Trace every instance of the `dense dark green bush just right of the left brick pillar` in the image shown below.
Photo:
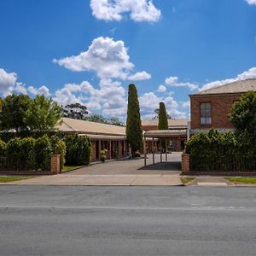
<path fill-rule="evenodd" d="M 71 135 L 66 137 L 65 142 L 67 165 L 82 166 L 90 163 L 91 143 L 89 137 Z"/>

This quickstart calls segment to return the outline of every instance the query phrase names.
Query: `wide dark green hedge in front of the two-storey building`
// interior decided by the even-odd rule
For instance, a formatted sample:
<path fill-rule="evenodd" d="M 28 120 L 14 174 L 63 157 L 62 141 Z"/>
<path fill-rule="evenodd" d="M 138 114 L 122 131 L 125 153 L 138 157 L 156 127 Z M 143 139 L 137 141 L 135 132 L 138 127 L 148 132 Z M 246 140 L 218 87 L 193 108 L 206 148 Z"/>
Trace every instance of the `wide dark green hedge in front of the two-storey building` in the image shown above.
<path fill-rule="evenodd" d="M 191 171 L 253 171 L 255 144 L 255 138 L 246 132 L 220 134 L 211 129 L 191 137 L 185 153 L 190 156 Z"/>

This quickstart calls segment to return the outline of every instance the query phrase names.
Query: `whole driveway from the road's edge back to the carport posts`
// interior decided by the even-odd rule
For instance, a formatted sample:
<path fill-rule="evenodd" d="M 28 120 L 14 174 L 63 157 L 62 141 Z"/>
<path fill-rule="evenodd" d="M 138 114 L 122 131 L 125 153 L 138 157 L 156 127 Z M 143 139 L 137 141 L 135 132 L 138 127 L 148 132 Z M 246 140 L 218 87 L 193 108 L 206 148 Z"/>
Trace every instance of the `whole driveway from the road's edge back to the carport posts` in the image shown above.
<path fill-rule="evenodd" d="M 163 157 L 163 160 L 165 157 Z M 181 153 L 168 154 L 168 161 L 150 165 L 152 156 L 148 155 L 148 165 L 144 160 L 114 160 L 86 166 L 73 172 L 55 176 L 34 177 L 9 184 L 31 185 L 84 185 L 84 186 L 173 186 L 182 185 L 180 174 Z M 155 163 L 160 161 L 156 155 Z"/>

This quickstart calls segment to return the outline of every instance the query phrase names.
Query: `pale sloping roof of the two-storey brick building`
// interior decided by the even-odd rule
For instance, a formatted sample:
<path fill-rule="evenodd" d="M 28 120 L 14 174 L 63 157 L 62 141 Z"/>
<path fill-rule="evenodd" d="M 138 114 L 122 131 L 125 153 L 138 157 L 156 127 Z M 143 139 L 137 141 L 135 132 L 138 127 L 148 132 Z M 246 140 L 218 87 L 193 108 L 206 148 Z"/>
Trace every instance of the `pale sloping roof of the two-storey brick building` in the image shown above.
<path fill-rule="evenodd" d="M 207 90 L 201 90 L 193 95 L 241 93 L 249 90 L 256 91 L 256 79 L 238 80 L 229 84 L 212 87 Z"/>

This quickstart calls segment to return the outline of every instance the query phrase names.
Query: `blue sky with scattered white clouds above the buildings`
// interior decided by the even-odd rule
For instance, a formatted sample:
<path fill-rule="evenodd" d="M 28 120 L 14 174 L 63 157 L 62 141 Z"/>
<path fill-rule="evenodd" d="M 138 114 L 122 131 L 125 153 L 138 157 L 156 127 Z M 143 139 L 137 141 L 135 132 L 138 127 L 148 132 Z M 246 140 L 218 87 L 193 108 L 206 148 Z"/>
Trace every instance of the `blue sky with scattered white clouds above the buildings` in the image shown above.
<path fill-rule="evenodd" d="M 0 31 L 0 96 L 121 119 L 130 83 L 143 118 L 189 118 L 189 94 L 256 78 L 256 0 L 1 0 Z"/>

